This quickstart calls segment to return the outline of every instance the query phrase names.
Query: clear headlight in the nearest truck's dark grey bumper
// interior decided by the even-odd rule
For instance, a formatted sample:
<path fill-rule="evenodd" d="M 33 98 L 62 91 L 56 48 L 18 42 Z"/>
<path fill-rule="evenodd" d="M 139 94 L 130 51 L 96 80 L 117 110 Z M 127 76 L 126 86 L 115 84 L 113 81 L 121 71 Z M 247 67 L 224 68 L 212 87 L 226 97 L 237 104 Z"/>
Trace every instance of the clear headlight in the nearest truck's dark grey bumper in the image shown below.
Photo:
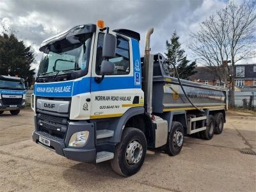
<path fill-rule="evenodd" d="M 70 147 L 82 147 L 88 140 L 89 131 L 81 131 L 72 134 L 68 146 Z"/>

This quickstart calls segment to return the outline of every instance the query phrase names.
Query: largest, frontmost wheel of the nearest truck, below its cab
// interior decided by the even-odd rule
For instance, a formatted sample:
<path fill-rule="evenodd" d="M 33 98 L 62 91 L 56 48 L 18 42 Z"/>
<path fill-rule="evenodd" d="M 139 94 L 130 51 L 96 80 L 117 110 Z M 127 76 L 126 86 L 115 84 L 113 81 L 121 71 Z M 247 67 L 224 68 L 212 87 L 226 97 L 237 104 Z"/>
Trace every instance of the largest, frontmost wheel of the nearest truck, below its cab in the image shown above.
<path fill-rule="evenodd" d="M 111 167 L 119 175 L 129 177 L 137 173 L 146 156 L 147 140 L 140 129 L 124 129 L 120 143 L 116 146 Z"/>

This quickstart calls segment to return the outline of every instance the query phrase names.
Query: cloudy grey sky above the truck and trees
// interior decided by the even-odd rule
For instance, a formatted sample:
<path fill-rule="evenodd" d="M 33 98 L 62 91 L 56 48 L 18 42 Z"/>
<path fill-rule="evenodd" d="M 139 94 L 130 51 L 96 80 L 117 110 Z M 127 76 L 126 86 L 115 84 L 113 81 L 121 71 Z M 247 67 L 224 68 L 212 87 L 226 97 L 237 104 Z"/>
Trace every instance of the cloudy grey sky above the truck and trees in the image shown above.
<path fill-rule="evenodd" d="M 170 1 L 11 1 L 0 0 L 0 32 L 3 26 L 17 31 L 17 36 L 31 45 L 36 61 L 41 42 L 77 24 L 104 20 L 111 29 L 126 28 L 141 34 L 141 50 L 148 28 L 154 28 L 152 52 L 164 52 L 165 42 L 176 29 L 182 47 L 190 57 L 189 33 L 209 15 L 225 6 L 221 0 Z M 247 62 L 247 61 L 246 61 Z M 35 65 L 36 66 L 36 65 Z"/>

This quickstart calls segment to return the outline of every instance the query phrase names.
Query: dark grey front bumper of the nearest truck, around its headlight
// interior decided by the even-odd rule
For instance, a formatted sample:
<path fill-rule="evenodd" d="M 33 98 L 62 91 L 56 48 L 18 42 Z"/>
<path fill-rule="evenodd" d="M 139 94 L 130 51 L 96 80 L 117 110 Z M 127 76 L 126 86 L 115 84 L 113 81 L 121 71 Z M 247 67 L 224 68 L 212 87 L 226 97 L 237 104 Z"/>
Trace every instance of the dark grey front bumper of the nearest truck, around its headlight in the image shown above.
<path fill-rule="evenodd" d="M 36 116 L 35 116 L 36 120 Z M 88 140 L 86 141 L 86 145 L 83 147 L 68 147 L 68 142 L 70 137 L 75 132 L 80 131 L 89 131 Z M 50 140 L 50 147 L 43 145 L 39 142 L 39 136 Z M 56 154 L 61 156 L 65 156 L 68 159 L 86 163 L 95 163 L 96 161 L 96 149 L 95 149 L 95 126 L 94 124 L 90 124 L 85 121 L 79 122 L 70 122 L 68 124 L 67 134 L 65 139 L 58 138 L 56 136 L 51 136 L 46 132 L 33 131 L 32 134 L 33 141 L 40 145 L 43 145 L 45 148 L 49 148 L 50 150 L 54 150 Z"/>

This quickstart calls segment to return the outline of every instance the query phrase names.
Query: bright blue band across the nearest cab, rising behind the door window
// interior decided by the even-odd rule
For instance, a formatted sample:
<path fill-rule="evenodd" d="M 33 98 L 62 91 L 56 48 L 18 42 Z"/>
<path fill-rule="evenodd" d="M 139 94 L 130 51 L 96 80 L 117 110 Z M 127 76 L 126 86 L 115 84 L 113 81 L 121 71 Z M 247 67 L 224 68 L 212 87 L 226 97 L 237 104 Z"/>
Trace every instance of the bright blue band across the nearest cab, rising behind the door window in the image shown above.
<path fill-rule="evenodd" d="M 79 81 L 36 83 L 35 95 L 42 97 L 72 97 L 88 92 L 141 88 L 140 46 L 138 40 L 131 39 L 131 42 L 133 76 L 105 76 L 101 83 L 97 83 L 94 77 L 84 77 Z"/>

